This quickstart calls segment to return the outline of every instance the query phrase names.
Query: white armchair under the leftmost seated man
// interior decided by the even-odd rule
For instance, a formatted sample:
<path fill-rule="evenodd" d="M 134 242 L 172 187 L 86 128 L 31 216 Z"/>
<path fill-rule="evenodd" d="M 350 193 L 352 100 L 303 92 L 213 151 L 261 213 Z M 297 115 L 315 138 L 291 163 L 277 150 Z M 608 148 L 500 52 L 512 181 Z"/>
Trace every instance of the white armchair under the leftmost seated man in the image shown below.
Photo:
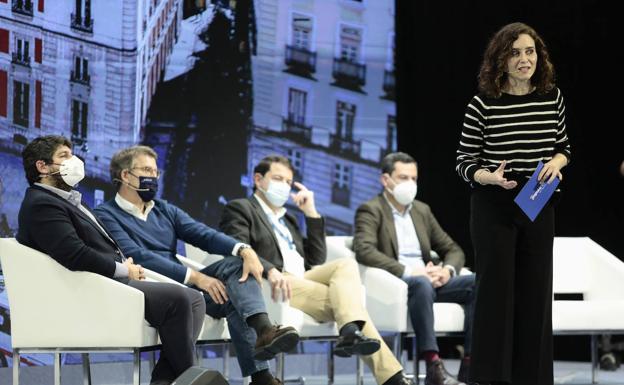
<path fill-rule="evenodd" d="M 142 292 L 98 274 L 67 270 L 13 238 L 0 239 L 0 261 L 11 312 L 14 385 L 20 354 L 26 352 L 55 354 L 55 385 L 60 353 L 132 352 L 133 383 L 140 383 L 139 353 L 158 345 L 156 329 L 144 318 Z"/>

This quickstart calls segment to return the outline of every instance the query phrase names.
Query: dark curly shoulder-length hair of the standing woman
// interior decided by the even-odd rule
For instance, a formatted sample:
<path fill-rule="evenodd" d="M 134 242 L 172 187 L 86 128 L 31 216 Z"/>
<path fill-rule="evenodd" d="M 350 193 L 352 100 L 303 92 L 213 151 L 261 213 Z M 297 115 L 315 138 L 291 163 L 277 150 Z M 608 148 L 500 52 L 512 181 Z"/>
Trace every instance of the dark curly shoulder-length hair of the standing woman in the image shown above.
<path fill-rule="evenodd" d="M 512 55 L 513 43 L 522 34 L 531 36 L 535 41 L 537 68 L 531 78 L 531 84 L 540 94 L 555 87 L 555 68 L 550 62 L 550 55 L 542 38 L 524 23 L 511 23 L 496 32 L 485 49 L 478 76 L 479 91 L 492 98 L 501 96 L 502 87 L 507 81 L 508 75 L 505 70 L 507 61 Z"/>

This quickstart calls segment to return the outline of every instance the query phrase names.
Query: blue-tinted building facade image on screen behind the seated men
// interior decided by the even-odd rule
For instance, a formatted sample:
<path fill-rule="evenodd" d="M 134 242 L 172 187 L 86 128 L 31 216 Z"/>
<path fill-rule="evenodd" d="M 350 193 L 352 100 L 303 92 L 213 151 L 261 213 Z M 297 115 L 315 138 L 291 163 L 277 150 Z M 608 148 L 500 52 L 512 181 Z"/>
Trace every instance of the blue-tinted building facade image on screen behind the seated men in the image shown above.
<path fill-rule="evenodd" d="M 0 236 L 17 231 L 21 151 L 48 134 L 85 160 L 92 207 L 114 196 L 112 155 L 143 143 L 159 196 L 216 226 L 277 153 L 328 233 L 351 234 L 396 150 L 393 57 L 394 0 L 0 0 Z M 0 274 L 0 355 L 9 313 Z"/>

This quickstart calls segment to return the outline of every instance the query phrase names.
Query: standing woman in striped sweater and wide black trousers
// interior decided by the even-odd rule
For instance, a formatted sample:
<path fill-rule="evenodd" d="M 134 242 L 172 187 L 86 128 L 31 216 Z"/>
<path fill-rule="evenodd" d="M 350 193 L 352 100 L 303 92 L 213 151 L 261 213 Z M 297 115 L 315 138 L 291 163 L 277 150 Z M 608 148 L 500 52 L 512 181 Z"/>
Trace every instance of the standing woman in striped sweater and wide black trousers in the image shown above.
<path fill-rule="evenodd" d="M 540 180 L 570 161 L 565 106 L 546 45 L 523 23 L 490 40 L 479 94 L 466 109 L 457 172 L 474 187 L 470 231 L 477 294 L 470 378 L 552 385 L 552 199 L 534 222 L 514 198 L 539 161 Z M 557 195 L 557 194 L 556 194 Z"/>

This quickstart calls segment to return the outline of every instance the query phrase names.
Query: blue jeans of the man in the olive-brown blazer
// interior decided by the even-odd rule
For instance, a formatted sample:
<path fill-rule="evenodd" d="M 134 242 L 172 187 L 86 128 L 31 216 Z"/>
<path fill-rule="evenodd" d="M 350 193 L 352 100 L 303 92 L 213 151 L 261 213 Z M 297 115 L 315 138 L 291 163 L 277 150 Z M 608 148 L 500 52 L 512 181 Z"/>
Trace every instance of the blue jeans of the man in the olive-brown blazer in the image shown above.
<path fill-rule="evenodd" d="M 469 355 L 472 345 L 475 275 L 455 276 L 449 279 L 446 285 L 437 289 L 431 286 L 429 278 L 424 276 L 408 277 L 404 281 L 408 288 L 407 304 L 416 334 L 418 352 L 439 351 L 433 329 L 433 304 L 434 302 L 451 302 L 464 306 L 464 351 L 466 355 Z"/>

